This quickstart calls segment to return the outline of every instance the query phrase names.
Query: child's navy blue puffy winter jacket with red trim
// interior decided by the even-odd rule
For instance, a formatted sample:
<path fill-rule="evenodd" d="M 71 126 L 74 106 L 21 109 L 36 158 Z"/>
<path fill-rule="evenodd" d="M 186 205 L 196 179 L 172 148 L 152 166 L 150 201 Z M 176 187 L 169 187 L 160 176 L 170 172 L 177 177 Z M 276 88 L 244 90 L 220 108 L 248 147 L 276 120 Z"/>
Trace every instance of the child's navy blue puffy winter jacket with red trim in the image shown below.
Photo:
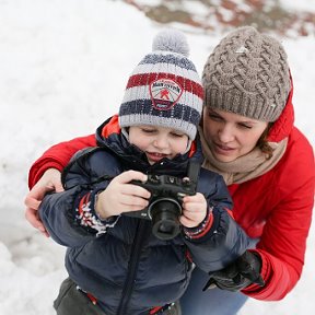
<path fill-rule="evenodd" d="M 211 223 L 208 215 L 200 226 L 182 229 L 175 238 L 161 241 L 152 234 L 150 220 L 119 215 L 101 221 L 94 201 L 108 185 L 107 176 L 136 170 L 184 177 L 189 159 L 201 162 L 202 154 L 197 140 L 194 152 L 150 165 L 121 135 L 117 121 L 105 121 L 96 137 L 100 148 L 72 159 L 62 174 L 66 190 L 47 195 L 39 214 L 51 237 L 68 247 L 70 278 L 97 299 L 105 314 L 149 314 L 183 295 L 194 264 L 209 272 L 245 252 L 248 238 L 229 214 L 232 201 L 225 184 L 203 168 L 197 190 L 212 209 Z M 92 228 L 80 217 L 82 207 L 89 210 Z"/>

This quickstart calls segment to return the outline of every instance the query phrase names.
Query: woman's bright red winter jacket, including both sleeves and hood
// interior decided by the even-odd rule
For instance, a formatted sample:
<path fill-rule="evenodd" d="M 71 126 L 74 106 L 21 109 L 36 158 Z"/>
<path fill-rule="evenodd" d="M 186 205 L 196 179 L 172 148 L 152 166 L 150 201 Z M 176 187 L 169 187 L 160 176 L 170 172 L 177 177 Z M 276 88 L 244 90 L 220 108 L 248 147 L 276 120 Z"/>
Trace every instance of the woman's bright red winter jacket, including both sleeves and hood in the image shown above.
<path fill-rule="evenodd" d="M 243 292 L 258 300 L 280 300 L 295 285 L 304 265 L 306 237 L 314 205 L 315 166 L 306 138 L 293 127 L 292 91 L 269 133 L 270 141 L 289 137 L 288 148 L 268 173 L 231 185 L 234 218 L 252 237 L 259 237 L 264 288 L 253 284 Z M 30 171 L 30 188 L 43 173 L 62 170 L 79 149 L 96 145 L 95 136 L 62 142 L 46 151 Z"/>

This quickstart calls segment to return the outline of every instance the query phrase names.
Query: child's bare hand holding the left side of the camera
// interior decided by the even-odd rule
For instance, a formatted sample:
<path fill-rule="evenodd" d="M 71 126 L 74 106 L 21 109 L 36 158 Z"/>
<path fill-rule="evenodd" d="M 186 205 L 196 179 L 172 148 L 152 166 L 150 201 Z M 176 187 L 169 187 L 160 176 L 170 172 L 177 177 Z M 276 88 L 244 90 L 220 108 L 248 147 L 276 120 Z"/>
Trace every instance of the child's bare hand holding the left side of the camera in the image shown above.
<path fill-rule="evenodd" d="M 129 184 L 132 179 L 145 182 L 148 176 L 136 171 L 116 176 L 107 188 L 98 195 L 95 210 L 102 219 L 122 212 L 139 211 L 148 207 L 151 194 L 143 187 Z"/>

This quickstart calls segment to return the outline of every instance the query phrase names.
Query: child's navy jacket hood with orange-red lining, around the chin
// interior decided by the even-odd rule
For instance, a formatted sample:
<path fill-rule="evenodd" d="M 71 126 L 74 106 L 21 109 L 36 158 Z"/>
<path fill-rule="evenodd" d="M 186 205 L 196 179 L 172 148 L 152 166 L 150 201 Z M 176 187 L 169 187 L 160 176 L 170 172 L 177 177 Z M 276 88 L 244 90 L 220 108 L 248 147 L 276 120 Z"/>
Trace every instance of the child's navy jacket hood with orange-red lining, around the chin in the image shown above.
<path fill-rule="evenodd" d="M 143 173 L 179 175 L 187 170 L 189 160 L 199 162 L 203 161 L 199 137 L 191 143 L 190 150 L 185 154 L 177 154 L 174 159 L 162 159 L 158 163 L 150 165 L 145 153 L 126 139 L 118 124 L 118 115 L 114 115 L 104 121 L 96 129 L 97 145 L 107 148 L 114 155 L 124 161 L 127 168 L 140 171 Z"/>

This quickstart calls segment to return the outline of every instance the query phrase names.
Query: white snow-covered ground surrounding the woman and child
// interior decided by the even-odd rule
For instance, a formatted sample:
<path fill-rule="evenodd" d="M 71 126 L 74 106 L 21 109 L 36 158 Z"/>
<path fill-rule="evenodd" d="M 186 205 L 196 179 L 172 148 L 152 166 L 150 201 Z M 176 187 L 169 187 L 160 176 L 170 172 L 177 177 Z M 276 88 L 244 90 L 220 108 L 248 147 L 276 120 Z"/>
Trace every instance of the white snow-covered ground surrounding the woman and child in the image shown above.
<path fill-rule="evenodd" d="M 315 9 L 314 0 L 282 2 Z M 201 73 L 223 35 L 172 26 L 187 34 Z M 0 0 L 0 315 L 55 314 L 66 277 L 65 249 L 24 219 L 31 164 L 117 112 L 130 72 L 162 27 L 121 1 Z M 295 122 L 314 148 L 314 36 L 280 39 L 295 83 Z M 294 290 L 280 302 L 248 300 L 241 315 L 314 314 L 314 232 L 313 224 Z"/>

